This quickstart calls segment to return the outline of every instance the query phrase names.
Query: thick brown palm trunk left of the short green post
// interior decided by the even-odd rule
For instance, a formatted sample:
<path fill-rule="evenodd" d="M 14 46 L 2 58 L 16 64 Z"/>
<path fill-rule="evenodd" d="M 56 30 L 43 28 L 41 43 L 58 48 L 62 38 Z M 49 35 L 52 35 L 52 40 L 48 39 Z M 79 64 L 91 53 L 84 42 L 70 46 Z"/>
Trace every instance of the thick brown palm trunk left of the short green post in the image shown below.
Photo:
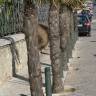
<path fill-rule="evenodd" d="M 28 71 L 31 96 L 43 96 L 41 65 L 37 38 L 37 9 L 31 0 L 25 0 L 24 33 L 27 43 Z"/>

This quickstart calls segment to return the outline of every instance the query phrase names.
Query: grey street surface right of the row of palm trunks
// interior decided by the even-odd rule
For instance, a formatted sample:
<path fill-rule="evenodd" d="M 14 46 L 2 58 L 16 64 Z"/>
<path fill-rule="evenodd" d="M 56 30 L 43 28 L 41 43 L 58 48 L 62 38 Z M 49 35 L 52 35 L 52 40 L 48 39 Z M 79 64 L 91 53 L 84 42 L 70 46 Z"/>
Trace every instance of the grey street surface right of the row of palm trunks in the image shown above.
<path fill-rule="evenodd" d="M 93 20 L 92 36 L 80 37 L 65 85 L 76 89 L 69 96 L 96 96 L 96 20 Z"/>

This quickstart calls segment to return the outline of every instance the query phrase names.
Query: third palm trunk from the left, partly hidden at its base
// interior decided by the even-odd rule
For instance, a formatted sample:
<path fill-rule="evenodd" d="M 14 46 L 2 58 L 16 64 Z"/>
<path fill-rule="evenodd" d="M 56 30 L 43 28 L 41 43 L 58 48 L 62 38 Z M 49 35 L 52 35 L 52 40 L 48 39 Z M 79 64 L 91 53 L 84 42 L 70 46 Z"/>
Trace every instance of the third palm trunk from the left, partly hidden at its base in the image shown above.
<path fill-rule="evenodd" d="M 67 6 L 60 5 L 60 48 L 61 48 L 61 62 L 64 70 L 68 70 L 67 65 L 67 44 L 69 38 L 69 18 Z"/>

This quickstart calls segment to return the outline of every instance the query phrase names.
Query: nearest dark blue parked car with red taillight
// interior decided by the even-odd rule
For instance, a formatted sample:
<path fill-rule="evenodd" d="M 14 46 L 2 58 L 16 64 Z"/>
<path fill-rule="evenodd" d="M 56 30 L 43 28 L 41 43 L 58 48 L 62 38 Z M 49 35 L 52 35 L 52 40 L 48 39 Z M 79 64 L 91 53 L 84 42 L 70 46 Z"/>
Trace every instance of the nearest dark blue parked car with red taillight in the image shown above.
<path fill-rule="evenodd" d="M 78 32 L 79 34 L 86 34 L 91 36 L 91 21 L 87 14 L 78 15 Z"/>

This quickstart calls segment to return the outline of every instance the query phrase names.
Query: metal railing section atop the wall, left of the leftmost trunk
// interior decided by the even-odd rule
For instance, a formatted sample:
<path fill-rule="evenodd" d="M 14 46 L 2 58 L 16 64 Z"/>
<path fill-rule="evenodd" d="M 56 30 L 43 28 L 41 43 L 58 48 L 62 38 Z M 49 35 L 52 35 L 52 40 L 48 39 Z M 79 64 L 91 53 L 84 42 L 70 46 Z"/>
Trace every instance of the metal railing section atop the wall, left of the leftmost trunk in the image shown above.
<path fill-rule="evenodd" d="M 0 4 L 0 37 L 18 33 L 23 27 L 23 1 L 5 0 Z"/>

